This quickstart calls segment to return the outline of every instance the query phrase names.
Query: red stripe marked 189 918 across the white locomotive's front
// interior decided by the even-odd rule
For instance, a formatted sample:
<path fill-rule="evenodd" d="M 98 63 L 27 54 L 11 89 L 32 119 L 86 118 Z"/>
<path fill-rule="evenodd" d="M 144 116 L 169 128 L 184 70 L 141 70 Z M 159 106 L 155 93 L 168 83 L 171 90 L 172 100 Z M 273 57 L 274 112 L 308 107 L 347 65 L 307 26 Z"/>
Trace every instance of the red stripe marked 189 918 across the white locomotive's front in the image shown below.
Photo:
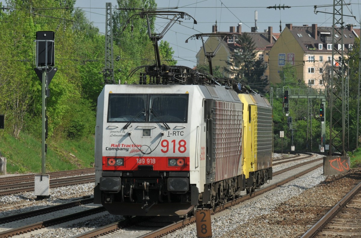
<path fill-rule="evenodd" d="M 107 158 L 124 158 L 124 166 L 108 166 Z M 184 159 L 184 166 L 168 166 L 168 159 Z M 189 171 L 189 157 L 114 157 L 103 156 L 103 170 L 132 171 L 139 170 L 138 166 L 153 165 L 153 170 L 159 171 Z"/>

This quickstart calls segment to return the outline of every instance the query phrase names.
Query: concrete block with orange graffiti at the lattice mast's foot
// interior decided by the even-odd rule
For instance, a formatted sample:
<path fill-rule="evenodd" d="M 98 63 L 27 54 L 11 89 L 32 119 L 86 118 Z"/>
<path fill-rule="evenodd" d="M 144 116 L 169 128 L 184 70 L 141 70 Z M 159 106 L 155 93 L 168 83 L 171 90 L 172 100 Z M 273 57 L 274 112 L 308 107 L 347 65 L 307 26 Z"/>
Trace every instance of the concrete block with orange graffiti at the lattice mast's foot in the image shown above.
<path fill-rule="evenodd" d="M 350 170 L 350 157 L 323 157 L 323 175 L 339 175 Z"/>

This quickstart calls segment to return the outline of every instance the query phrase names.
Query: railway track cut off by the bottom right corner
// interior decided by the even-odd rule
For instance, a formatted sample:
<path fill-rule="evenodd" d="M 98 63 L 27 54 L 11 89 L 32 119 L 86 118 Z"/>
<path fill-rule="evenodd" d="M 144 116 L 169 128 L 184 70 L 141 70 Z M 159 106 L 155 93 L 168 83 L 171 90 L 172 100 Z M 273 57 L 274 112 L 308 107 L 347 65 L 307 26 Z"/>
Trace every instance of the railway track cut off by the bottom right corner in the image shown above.
<path fill-rule="evenodd" d="M 358 237 L 361 234 L 361 182 L 332 207 L 301 238 Z"/>

